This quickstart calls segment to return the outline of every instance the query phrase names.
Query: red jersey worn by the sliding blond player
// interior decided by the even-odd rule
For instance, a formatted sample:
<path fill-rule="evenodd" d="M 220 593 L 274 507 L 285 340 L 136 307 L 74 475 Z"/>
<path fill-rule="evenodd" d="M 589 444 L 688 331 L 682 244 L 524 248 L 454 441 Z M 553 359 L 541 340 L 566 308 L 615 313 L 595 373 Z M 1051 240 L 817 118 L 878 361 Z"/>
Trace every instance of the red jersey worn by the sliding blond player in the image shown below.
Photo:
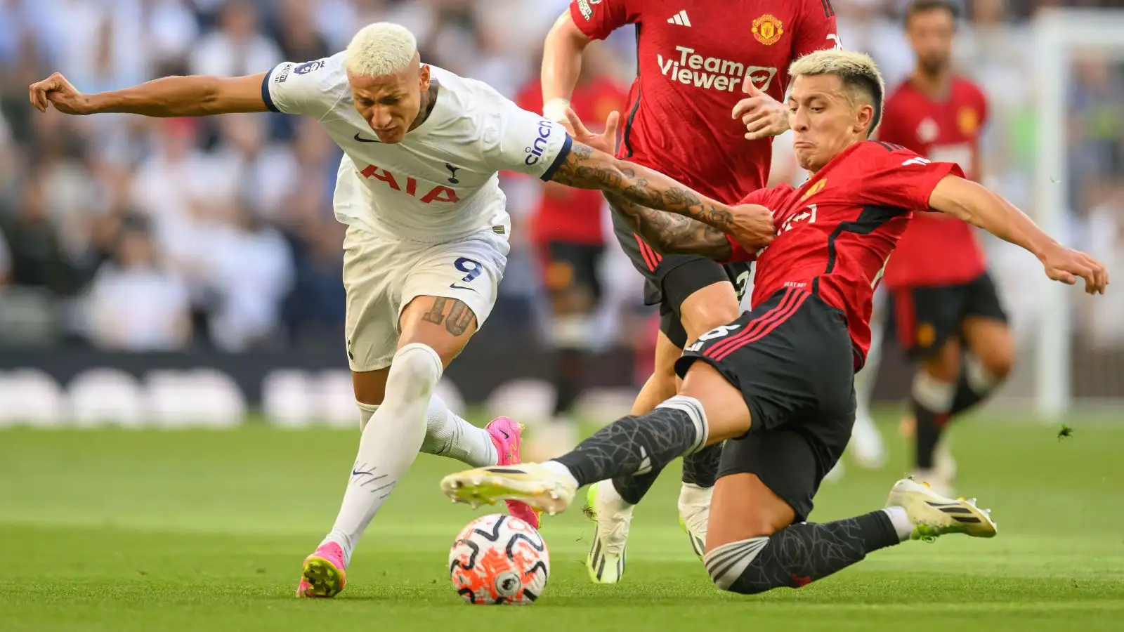
<path fill-rule="evenodd" d="M 930 162 L 901 147 L 863 142 L 844 150 L 798 189 L 781 184 L 746 196 L 773 211 L 777 237 L 760 254 L 731 240 L 732 261 L 756 259 L 753 305 L 785 288 L 818 295 L 846 316 L 855 369 L 870 349 L 874 288 L 914 210 L 955 163 Z M 897 254 L 895 254 L 897 256 Z"/>

